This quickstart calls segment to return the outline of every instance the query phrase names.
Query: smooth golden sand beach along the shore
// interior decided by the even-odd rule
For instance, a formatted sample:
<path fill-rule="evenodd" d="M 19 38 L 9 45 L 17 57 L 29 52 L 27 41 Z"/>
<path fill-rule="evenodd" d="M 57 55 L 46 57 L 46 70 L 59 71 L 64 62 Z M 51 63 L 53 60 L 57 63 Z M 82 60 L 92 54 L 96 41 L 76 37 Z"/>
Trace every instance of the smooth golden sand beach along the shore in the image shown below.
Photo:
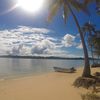
<path fill-rule="evenodd" d="M 92 73 L 99 70 L 93 68 Z M 81 74 L 82 68 L 78 68 L 76 73 L 50 72 L 1 80 L 0 100 L 81 100 L 80 95 L 89 90 L 72 85 Z"/>

